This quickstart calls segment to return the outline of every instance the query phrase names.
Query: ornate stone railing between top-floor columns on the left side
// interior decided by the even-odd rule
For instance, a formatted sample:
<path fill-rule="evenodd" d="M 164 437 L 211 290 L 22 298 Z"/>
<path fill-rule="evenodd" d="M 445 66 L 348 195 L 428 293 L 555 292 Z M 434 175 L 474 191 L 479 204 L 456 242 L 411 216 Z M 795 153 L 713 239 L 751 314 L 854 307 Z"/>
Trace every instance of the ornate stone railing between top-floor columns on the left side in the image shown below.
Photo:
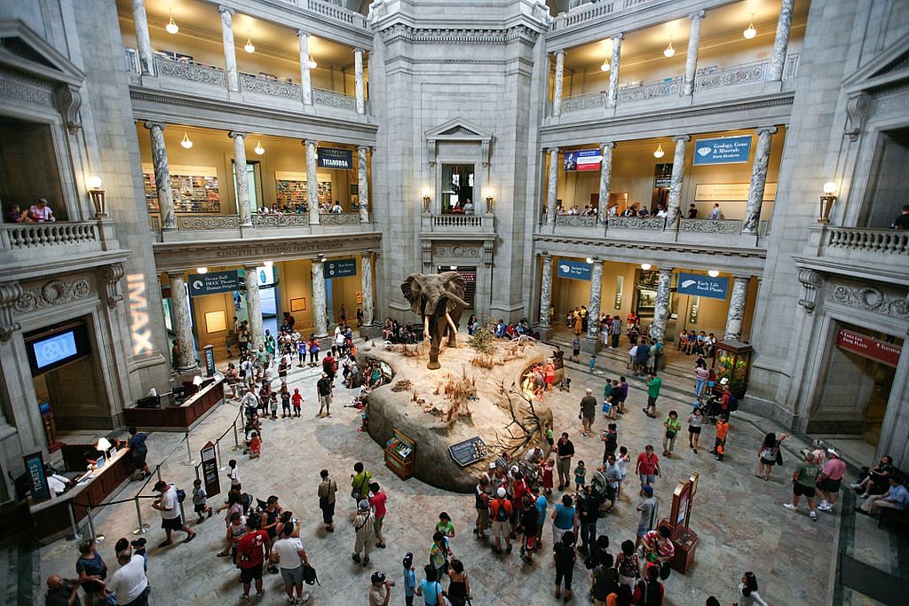
<path fill-rule="evenodd" d="M 125 49 L 125 65 L 129 72 L 141 74 L 139 55 L 135 48 Z M 151 78 L 157 78 L 163 88 L 182 88 L 185 83 L 192 83 L 192 86 L 198 85 L 202 87 L 195 88 L 196 93 L 202 94 L 205 91 L 205 87 L 211 86 L 221 89 L 222 94 L 226 98 L 227 76 L 223 67 L 186 59 L 172 59 L 165 55 L 155 55 L 153 68 L 155 75 L 151 76 Z M 263 103 L 264 100 L 256 98 L 257 95 L 271 97 L 272 100 L 265 101 L 265 104 L 269 106 L 273 106 L 275 99 L 285 100 L 287 102 L 285 107 L 294 107 L 296 104 L 302 103 L 303 89 L 300 84 L 296 84 L 292 80 L 261 74 L 247 74 L 245 72 L 240 72 L 238 79 L 240 93 L 244 95 L 244 100 L 250 104 Z M 153 85 L 150 84 L 151 82 L 154 82 L 154 80 L 143 80 L 145 85 Z M 313 104 L 340 110 L 345 114 L 356 114 L 356 97 L 350 94 L 314 88 Z M 365 102 L 365 111 L 368 112 L 367 102 Z"/>

